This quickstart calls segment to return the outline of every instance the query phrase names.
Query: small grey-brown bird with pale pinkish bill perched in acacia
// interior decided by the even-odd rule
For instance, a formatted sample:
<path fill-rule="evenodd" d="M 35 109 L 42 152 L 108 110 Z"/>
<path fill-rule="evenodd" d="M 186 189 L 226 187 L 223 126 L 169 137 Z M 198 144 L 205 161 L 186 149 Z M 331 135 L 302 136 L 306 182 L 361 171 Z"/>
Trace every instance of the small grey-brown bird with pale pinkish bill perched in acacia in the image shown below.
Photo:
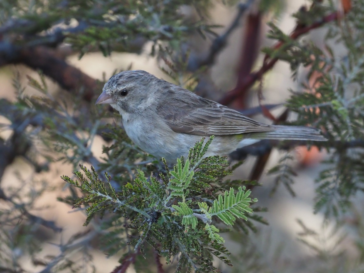
<path fill-rule="evenodd" d="M 205 156 L 228 155 L 261 139 L 327 140 L 315 128 L 257 122 L 143 70 L 112 76 L 96 104 L 118 110 L 135 144 L 171 162 L 186 157 L 203 136 L 215 135 Z"/>

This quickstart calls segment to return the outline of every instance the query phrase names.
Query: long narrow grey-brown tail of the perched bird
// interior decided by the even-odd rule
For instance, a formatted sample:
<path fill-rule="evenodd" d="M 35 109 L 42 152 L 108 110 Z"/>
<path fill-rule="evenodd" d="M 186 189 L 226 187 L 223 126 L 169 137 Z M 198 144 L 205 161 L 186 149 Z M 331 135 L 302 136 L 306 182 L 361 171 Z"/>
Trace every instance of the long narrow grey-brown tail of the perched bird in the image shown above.
<path fill-rule="evenodd" d="M 321 130 L 306 126 L 272 125 L 275 130 L 265 132 L 265 139 L 327 141 Z"/>

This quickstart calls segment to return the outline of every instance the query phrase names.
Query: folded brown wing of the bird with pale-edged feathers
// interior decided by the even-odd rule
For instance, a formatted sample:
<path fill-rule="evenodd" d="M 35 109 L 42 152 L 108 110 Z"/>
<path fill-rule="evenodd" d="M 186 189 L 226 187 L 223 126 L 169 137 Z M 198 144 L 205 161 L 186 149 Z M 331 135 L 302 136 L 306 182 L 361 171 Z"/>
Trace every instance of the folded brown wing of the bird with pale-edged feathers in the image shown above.
<path fill-rule="evenodd" d="M 183 94 L 178 95 L 178 91 Z M 157 112 L 177 133 L 201 136 L 267 132 L 273 126 L 262 124 L 217 102 L 206 100 L 185 89 L 166 94 Z M 170 100 L 174 100 L 171 102 Z M 177 100 L 177 101 L 176 101 Z"/>

